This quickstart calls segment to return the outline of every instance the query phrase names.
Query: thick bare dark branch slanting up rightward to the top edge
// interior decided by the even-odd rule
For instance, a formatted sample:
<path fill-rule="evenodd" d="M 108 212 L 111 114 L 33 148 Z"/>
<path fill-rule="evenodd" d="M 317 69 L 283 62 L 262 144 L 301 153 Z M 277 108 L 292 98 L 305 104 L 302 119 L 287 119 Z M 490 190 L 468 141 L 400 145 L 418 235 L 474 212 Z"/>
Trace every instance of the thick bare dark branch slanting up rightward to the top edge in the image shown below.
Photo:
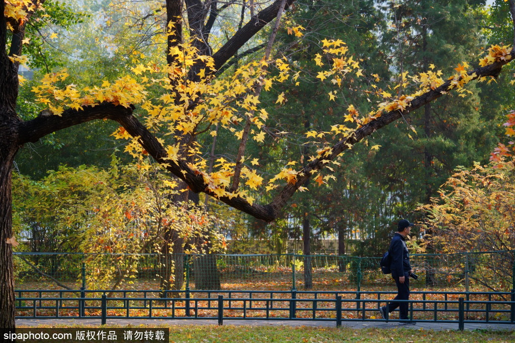
<path fill-rule="evenodd" d="M 285 9 L 288 9 L 295 0 L 287 0 Z M 258 14 L 251 17 L 250 21 L 244 27 L 236 31 L 233 37 L 224 44 L 213 55 L 215 61 L 215 69 L 219 69 L 231 57 L 235 55 L 239 48 L 247 43 L 254 34 L 258 33 L 263 27 L 270 23 L 275 17 L 281 7 L 282 0 L 276 0 L 272 5 L 268 6 Z"/>

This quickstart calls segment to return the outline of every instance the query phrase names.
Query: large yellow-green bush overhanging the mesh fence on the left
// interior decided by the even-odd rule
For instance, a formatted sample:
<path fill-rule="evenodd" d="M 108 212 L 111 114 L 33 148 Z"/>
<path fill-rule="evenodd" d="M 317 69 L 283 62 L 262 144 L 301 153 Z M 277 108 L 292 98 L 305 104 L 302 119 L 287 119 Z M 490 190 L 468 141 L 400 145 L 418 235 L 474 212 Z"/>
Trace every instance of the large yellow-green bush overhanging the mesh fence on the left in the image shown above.
<path fill-rule="evenodd" d="M 178 233 L 187 254 L 202 254 L 208 244 L 213 251 L 225 251 L 219 230 L 225 223 L 199 207 L 172 206 L 170 194 L 176 192 L 176 182 L 156 168 L 121 166 L 113 156 L 108 170 L 61 167 L 39 181 L 16 175 L 15 234 L 31 251 L 87 253 L 90 287 L 113 290 L 132 283 L 138 276 L 140 254 L 159 252 L 168 229 Z M 106 253 L 120 255 L 111 258 Z M 25 262 L 52 264 L 49 270 L 45 266 L 49 276 L 55 276 L 63 262 L 46 256 L 35 259 Z M 165 268 L 182 266 L 183 256 L 175 256 L 171 265 L 163 263 L 164 256 L 157 254 L 157 259 L 156 274 L 151 277 L 166 275 L 165 282 L 173 284 L 174 274 Z"/>

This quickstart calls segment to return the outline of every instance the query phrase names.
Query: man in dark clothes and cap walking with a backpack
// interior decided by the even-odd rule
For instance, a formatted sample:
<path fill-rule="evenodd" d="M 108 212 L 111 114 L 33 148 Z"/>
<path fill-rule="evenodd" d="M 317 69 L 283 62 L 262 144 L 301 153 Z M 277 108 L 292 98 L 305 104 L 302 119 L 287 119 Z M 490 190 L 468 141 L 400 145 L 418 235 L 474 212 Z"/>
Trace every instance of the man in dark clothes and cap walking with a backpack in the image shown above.
<path fill-rule="evenodd" d="M 393 300 L 408 300 L 409 299 L 409 275 L 413 273 L 411 265 L 409 264 L 409 252 L 406 246 L 406 236 L 408 236 L 411 227 L 415 224 L 402 219 L 399 221 L 397 232 L 391 239 L 388 255 L 391 256 L 391 276 L 397 284 L 398 294 Z M 390 312 L 399 308 L 399 319 L 401 325 L 415 325 L 414 321 L 408 318 L 408 303 L 407 302 L 390 302 L 388 306 L 388 313 L 386 306 L 379 308 L 379 312 L 383 319 L 387 319 Z"/>

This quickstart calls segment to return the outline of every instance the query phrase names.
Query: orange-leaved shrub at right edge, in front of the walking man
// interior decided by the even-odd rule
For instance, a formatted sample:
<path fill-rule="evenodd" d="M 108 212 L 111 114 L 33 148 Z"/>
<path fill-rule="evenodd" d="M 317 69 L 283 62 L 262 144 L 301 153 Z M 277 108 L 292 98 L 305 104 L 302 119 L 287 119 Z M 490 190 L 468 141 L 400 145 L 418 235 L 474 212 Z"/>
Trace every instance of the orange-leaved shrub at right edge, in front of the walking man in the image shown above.
<path fill-rule="evenodd" d="M 419 210 L 427 213 L 422 222 L 424 245 L 431 243 L 443 254 L 504 251 L 473 255 L 471 269 L 481 269 L 471 278 L 492 290 L 511 286 L 515 248 L 515 185 L 512 160 L 460 168 L 439 189 L 439 195 Z M 495 267 L 493 267 L 495 266 Z M 476 273 L 477 274 L 477 273 Z M 488 274 L 488 275 L 487 275 Z M 500 280 L 495 283 L 494 280 Z"/>

